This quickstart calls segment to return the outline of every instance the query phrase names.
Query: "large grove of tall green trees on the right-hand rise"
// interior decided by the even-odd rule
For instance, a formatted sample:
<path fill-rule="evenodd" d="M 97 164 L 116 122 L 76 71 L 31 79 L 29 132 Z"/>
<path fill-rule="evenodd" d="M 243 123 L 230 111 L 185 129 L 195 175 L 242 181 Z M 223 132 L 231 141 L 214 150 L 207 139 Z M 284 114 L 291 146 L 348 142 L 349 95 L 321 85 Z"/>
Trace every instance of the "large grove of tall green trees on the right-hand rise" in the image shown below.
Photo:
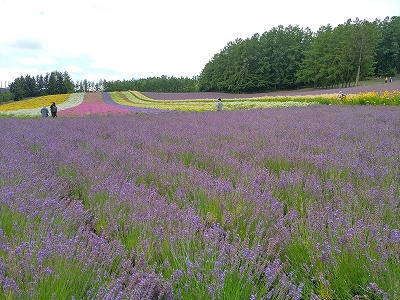
<path fill-rule="evenodd" d="M 357 85 L 361 78 L 399 73 L 399 53 L 400 17 L 348 20 L 316 33 L 278 26 L 228 43 L 204 67 L 199 89 L 241 93 Z"/>

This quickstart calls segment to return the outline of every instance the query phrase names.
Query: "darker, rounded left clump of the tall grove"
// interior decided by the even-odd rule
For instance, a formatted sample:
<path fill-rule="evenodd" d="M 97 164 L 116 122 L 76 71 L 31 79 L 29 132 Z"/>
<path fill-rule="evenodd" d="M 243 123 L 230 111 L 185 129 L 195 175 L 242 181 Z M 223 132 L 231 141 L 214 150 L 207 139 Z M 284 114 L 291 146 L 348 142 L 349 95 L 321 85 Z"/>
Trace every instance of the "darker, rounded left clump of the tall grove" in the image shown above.
<path fill-rule="evenodd" d="M 293 88 L 311 37 L 309 29 L 279 26 L 261 36 L 236 39 L 206 64 L 199 89 L 240 93 Z"/>

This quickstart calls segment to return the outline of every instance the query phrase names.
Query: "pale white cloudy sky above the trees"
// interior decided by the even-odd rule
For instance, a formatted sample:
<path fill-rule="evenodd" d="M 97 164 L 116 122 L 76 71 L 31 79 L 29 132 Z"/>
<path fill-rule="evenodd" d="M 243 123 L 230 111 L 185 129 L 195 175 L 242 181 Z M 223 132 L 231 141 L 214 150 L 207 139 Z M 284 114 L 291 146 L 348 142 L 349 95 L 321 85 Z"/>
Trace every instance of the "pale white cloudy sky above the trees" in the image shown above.
<path fill-rule="evenodd" d="M 192 78 L 237 38 L 392 16 L 399 0 L 0 0 L 0 87 L 55 70 L 74 81 Z"/>

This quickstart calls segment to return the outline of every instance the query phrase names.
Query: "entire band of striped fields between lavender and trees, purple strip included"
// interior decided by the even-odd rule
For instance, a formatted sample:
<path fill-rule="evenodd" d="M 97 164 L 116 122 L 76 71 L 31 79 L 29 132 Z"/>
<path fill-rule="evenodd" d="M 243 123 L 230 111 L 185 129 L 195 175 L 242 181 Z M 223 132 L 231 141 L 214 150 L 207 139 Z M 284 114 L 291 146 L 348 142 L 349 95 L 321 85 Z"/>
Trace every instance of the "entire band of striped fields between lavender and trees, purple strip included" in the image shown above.
<path fill-rule="evenodd" d="M 39 117 L 40 109 L 55 102 L 58 116 L 75 117 L 107 114 L 148 114 L 171 111 L 205 112 L 216 109 L 218 98 L 223 110 L 263 109 L 273 107 L 333 105 L 400 105 L 400 82 L 342 89 L 297 90 L 264 94 L 224 93 L 140 93 L 88 92 L 50 95 L 0 105 L 0 117 Z"/>

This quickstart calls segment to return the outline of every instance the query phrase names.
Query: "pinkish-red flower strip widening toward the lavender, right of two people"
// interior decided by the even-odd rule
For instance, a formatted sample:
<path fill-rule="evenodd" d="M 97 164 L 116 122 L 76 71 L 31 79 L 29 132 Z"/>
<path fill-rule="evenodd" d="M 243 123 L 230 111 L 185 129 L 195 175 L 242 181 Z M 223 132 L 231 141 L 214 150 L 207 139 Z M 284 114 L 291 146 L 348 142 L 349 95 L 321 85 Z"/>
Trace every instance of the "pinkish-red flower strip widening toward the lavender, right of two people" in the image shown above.
<path fill-rule="evenodd" d="M 85 116 L 85 115 L 105 115 L 105 114 L 128 114 L 128 109 L 123 109 L 104 103 L 101 92 L 86 93 L 83 102 L 75 107 L 71 107 L 58 112 L 59 116 Z"/>

